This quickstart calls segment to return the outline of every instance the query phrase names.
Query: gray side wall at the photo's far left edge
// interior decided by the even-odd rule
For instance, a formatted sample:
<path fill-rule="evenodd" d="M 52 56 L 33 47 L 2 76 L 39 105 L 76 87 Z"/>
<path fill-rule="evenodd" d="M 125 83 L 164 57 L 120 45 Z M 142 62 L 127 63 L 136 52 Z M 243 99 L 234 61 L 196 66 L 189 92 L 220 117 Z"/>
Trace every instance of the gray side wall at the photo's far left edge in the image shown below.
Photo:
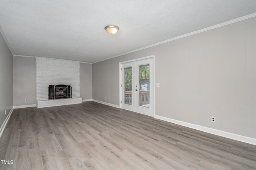
<path fill-rule="evenodd" d="M 0 127 L 12 109 L 12 53 L 0 34 Z M 6 110 L 6 114 L 5 114 Z"/>

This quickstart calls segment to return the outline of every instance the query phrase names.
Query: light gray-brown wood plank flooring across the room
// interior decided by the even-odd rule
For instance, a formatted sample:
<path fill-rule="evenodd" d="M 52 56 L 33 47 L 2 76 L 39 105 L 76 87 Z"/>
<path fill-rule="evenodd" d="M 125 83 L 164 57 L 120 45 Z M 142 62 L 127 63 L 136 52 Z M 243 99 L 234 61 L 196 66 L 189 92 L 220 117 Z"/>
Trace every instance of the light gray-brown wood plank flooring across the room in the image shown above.
<path fill-rule="evenodd" d="M 1 170 L 249 170 L 256 146 L 95 102 L 14 109 Z"/>

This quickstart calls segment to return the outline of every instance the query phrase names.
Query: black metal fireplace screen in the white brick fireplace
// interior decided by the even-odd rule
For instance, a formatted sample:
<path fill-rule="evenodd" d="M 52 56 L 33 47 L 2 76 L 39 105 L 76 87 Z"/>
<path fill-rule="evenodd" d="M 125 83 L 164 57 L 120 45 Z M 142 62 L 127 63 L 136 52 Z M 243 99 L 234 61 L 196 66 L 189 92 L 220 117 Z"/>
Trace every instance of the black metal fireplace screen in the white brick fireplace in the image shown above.
<path fill-rule="evenodd" d="M 49 85 L 48 99 L 71 98 L 72 87 L 70 85 Z"/>

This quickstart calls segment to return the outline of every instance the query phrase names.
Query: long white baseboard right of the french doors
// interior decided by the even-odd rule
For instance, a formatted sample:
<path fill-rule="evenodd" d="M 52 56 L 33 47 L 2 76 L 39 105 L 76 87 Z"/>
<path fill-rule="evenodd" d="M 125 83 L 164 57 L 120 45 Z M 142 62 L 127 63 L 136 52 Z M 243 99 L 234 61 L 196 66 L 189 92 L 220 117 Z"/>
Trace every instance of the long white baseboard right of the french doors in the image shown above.
<path fill-rule="evenodd" d="M 234 134 L 234 133 L 230 133 L 230 132 L 225 132 L 225 131 L 217 130 L 217 129 L 213 129 L 213 128 L 203 127 L 203 126 L 195 125 L 195 124 L 192 124 L 192 123 L 177 121 L 175 119 L 170 119 L 170 118 L 162 117 L 162 116 L 158 116 L 158 115 L 155 115 L 154 118 L 160 119 L 162 121 L 170 122 L 170 123 L 175 123 L 177 125 L 181 125 L 181 126 L 184 126 L 184 127 L 193 128 L 193 129 L 200 130 L 200 131 L 203 131 L 203 132 L 207 132 L 207 133 L 210 133 L 210 134 L 215 134 L 215 135 L 222 136 L 222 137 L 225 137 L 225 138 L 238 140 L 240 142 L 245 142 L 245 143 L 256 145 L 256 139 L 255 138 L 250 138 L 250 137 L 246 137 L 246 136 L 242 136 L 242 135 L 238 135 L 238 134 Z"/>

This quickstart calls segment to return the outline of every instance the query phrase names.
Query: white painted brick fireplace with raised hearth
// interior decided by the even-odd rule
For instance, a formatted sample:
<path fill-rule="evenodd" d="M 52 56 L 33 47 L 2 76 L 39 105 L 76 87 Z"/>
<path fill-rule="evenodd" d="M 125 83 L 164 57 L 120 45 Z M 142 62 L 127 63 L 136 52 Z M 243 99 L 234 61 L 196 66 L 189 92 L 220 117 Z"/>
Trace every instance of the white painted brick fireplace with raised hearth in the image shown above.
<path fill-rule="evenodd" d="M 71 85 L 72 98 L 48 100 L 49 85 Z M 80 63 L 49 58 L 36 58 L 36 107 L 82 103 L 80 97 Z"/>

